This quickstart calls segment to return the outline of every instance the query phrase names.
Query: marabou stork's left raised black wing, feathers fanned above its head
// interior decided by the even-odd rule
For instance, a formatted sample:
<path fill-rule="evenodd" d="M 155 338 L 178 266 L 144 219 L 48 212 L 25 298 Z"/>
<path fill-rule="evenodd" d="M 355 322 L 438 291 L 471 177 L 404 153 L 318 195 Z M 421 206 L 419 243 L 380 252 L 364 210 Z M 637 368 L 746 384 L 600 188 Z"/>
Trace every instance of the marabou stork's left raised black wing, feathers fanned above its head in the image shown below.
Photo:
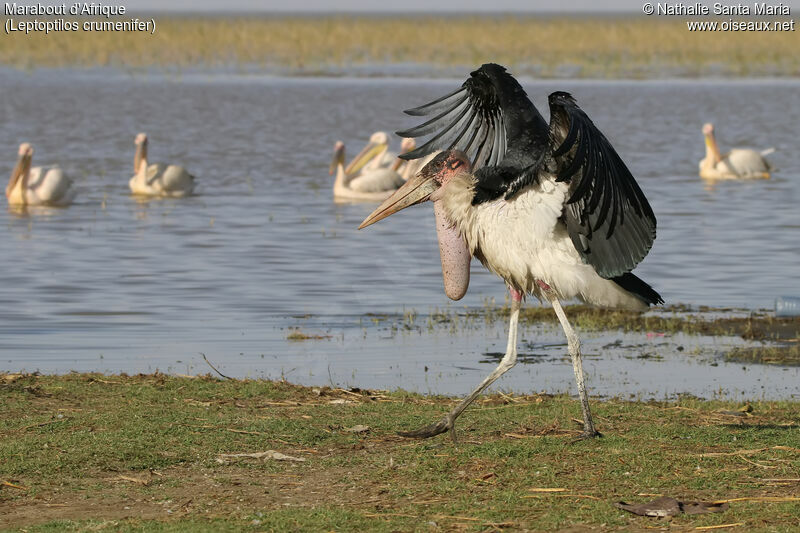
<path fill-rule="evenodd" d="M 490 167 L 529 166 L 547 147 L 547 123 L 517 80 L 492 63 L 472 72 L 458 90 L 406 113 L 433 117 L 398 131 L 398 135 L 432 137 L 403 154 L 403 159 L 417 159 L 437 150 L 461 150 L 472 161 L 479 181 L 486 174 L 486 185 L 498 189 L 496 196 L 505 192 L 505 181 L 513 172 L 497 173 Z"/>

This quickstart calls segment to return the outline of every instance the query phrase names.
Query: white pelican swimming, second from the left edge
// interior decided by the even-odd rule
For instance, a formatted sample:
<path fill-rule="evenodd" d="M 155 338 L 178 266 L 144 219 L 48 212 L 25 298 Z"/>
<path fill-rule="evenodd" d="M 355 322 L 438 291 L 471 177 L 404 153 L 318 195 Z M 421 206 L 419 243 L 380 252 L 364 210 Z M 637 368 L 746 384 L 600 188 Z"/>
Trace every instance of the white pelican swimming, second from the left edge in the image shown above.
<path fill-rule="evenodd" d="M 133 194 L 145 196 L 189 196 L 194 191 L 194 176 L 180 165 L 148 164 L 147 135 L 136 136 L 136 155 L 133 158 L 134 175 L 128 182 Z"/>

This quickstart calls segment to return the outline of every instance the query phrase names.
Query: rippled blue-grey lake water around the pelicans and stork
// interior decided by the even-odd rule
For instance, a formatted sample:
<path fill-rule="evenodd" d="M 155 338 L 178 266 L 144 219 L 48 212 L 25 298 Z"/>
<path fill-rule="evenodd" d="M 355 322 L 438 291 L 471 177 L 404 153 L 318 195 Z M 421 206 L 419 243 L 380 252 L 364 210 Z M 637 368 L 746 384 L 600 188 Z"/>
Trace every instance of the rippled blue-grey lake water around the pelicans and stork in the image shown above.
<path fill-rule="evenodd" d="M 414 124 L 402 109 L 461 81 L 0 71 L 0 169 L 30 141 L 34 164 L 59 164 L 79 190 L 68 209 L 0 210 L 0 370 L 204 373 L 202 352 L 237 376 L 465 392 L 494 366 L 486 354 L 504 349 L 503 324 L 393 333 L 364 315 L 502 302 L 502 282 L 476 263 L 469 294 L 449 303 L 432 210 L 357 231 L 374 205 L 333 203 L 327 174 L 334 141 L 352 156 L 373 131 Z M 659 222 L 637 274 L 668 303 L 757 309 L 800 295 L 800 82 L 522 83 L 545 115 L 549 92 L 572 92 L 628 163 Z M 705 121 L 723 151 L 774 146 L 774 178 L 701 182 Z M 196 196 L 128 194 L 139 131 L 151 160 L 197 176 Z M 290 342 L 291 327 L 331 338 Z M 521 334 L 542 355 L 532 360 L 554 364 L 523 365 L 500 386 L 571 390 L 560 331 Z M 624 341 L 651 342 L 668 362 L 614 355 L 609 338 L 588 336 L 587 353 L 604 354 L 590 357 L 593 390 L 784 397 L 800 377 Z M 707 363 L 737 342 L 667 344 L 693 345 Z"/>

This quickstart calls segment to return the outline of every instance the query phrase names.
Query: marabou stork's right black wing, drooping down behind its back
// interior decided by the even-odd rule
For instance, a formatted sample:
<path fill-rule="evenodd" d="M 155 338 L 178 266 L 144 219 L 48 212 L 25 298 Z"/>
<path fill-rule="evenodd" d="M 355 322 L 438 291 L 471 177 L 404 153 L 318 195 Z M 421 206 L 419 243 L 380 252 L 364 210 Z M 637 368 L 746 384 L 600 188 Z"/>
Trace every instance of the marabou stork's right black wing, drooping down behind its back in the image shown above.
<path fill-rule="evenodd" d="M 550 95 L 550 150 L 572 243 L 604 278 L 629 272 L 656 238 L 656 217 L 628 167 L 569 93 Z"/>

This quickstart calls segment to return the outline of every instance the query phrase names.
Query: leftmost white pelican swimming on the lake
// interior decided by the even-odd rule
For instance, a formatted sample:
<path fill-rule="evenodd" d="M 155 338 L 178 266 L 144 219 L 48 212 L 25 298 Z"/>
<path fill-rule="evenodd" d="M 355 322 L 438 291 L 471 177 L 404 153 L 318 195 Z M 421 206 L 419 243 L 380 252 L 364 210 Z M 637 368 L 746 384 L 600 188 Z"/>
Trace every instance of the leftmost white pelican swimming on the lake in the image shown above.
<path fill-rule="evenodd" d="M 6 186 L 9 205 L 46 205 L 65 207 L 75 198 L 72 180 L 58 167 L 33 167 L 33 147 L 19 145 L 17 164 Z"/>

